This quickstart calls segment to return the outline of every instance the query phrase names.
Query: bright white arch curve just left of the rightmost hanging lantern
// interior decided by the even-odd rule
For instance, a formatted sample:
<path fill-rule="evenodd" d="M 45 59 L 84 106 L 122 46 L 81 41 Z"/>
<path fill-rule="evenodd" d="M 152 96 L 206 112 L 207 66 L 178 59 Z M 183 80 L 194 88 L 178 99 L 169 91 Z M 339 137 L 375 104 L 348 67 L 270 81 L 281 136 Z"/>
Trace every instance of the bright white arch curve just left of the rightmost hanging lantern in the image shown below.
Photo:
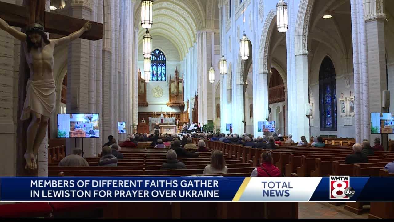
<path fill-rule="evenodd" d="M 276 11 L 271 9 L 267 15 L 260 38 L 260 49 L 258 52 L 258 73 L 268 72 L 268 46 L 271 38 L 272 23 L 274 23 L 275 19 Z"/>

